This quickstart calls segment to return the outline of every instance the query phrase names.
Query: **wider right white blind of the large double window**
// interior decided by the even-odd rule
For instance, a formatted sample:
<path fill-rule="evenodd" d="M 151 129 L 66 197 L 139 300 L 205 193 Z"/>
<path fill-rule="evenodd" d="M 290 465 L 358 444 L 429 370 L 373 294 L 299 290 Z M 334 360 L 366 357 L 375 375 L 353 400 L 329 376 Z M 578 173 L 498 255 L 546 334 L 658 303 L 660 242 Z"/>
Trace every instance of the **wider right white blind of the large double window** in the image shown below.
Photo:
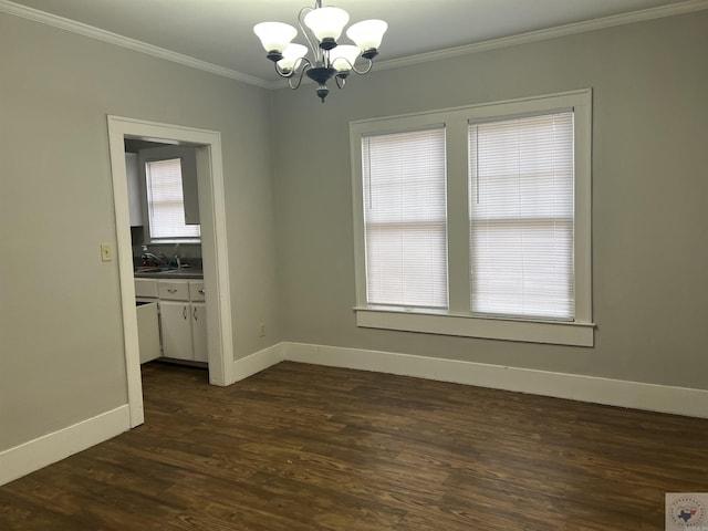
<path fill-rule="evenodd" d="M 472 313 L 572 320 L 573 113 L 469 125 Z"/>

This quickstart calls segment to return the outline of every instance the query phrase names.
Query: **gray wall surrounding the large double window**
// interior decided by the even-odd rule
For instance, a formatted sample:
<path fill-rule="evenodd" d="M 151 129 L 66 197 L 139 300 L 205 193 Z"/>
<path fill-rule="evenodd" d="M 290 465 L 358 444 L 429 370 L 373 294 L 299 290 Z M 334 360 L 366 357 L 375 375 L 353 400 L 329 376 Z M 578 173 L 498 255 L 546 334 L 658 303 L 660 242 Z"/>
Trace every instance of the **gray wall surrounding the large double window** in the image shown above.
<path fill-rule="evenodd" d="M 708 11 L 273 95 L 290 341 L 708 389 Z M 385 49 L 382 50 L 385 58 Z M 357 329 L 350 121 L 594 90 L 595 347 Z"/>

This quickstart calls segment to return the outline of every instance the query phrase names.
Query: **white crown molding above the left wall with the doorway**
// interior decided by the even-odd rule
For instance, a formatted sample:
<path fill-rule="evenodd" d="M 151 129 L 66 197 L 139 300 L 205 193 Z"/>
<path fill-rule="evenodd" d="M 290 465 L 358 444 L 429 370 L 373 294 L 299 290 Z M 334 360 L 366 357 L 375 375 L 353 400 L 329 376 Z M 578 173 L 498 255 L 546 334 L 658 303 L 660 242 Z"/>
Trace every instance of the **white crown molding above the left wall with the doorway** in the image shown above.
<path fill-rule="evenodd" d="M 228 77 L 230 80 L 241 81 L 243 83 L 260 86 L 262 88 L 269 88 L 271 85 L 270 82 L 261 80 L 260 77 L 243 74 L 241 72 L 237 72 L 236 70 L 219 66 L 218 64 L 201 61 L 200 59 L 195 59 L 189 55 L 173 52 L 164 48 L 154 46 L 153 44 L 147 44 L 146 42 L 118 35 L 117 33 L 112 33 L 100 28 L 94 28 L 93 25 L 76 22 L 75 20 L 65 19 L 63 17 L 46 13 L 38 9 L 20 6 L 14 2 L 10 2 L 9 0 L 0 0 L 0 12 L 13 14 L 15 17 L 28 19 L 33 22 L 40 22 L 42 24 L 51 25 L 60 30 L 70 31 L 72 33 L 107 42 L 110 44 L 115 44 L 121 48 L 127 48 L 128 50 L 145 53 L 147 55 L 153 55 L 154 58 L 164 59 L 166 61 L 179 63 L 185 66 L 190 66 L 192 69 L 209 72 L 211 74 Z"/>

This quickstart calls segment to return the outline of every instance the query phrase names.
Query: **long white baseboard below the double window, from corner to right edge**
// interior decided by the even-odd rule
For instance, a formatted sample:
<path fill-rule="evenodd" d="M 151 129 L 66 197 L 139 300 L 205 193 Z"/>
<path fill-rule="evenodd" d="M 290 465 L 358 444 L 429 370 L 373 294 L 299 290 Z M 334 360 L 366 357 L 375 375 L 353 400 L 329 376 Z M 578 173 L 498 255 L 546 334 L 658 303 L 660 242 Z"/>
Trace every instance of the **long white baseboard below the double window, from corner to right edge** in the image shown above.
<path fill-rule="evenodd" d="M 483 363 L 302 343 L 281 343 L 282 358 L 533 395 L 708 418 L 708 391 Z"/>

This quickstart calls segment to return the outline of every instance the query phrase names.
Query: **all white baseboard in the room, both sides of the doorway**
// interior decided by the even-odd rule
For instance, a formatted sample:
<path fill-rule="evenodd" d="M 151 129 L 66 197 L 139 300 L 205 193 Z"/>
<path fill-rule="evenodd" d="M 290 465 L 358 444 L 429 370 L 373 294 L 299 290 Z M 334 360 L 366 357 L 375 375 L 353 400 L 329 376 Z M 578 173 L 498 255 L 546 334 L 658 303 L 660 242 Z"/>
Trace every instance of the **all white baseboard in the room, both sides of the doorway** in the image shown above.
<path fill-rule="evenodd" d="M 283 342 L 233 362 L 236 382 L 282 361 L 554 396 L 708 418 L 708 391 L 483 363 Z M 0 452 L 0 485 L 131 429 L 128 405 Z"/>

